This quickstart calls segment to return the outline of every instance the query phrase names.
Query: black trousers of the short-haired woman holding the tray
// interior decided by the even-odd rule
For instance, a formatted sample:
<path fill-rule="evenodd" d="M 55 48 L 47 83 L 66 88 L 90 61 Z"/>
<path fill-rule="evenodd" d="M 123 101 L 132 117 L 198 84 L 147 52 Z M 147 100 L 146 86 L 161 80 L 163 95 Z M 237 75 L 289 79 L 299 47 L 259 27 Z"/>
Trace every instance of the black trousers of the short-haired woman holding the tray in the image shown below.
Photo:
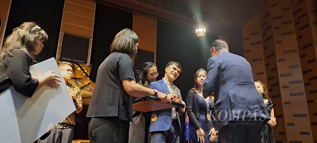
<path fill-rule="evenodd" d="M 88 125 L 90 143 L 127 143 L 129 121 L 118 117 L 93 117 Z"/>

